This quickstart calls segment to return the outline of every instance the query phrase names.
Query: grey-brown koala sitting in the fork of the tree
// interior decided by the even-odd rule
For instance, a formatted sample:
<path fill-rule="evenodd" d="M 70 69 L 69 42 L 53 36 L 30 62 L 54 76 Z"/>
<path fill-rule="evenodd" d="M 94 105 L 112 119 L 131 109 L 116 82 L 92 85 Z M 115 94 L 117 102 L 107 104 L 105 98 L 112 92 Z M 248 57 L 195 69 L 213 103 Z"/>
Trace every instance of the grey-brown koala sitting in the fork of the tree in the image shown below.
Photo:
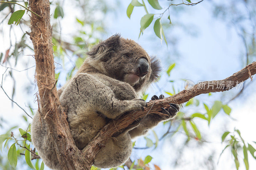
<path fill-rule="evenodd" d="M 156 57 L 149 57 L 139 44 L 119 34 L 93 46 L 75 76 L 58 91 L 61 105 L 68 107 L 68 123 L 78 149 L 82 150 L 110 120 L 132 110 L 144 110 L 147 104 L 140 96 L 157 80 L 160 71 Z M 155 95 L 152 100 L 159 98 Z M 140 123 L 109 138 L 96 155 L 94 166 L 110 168 L 124 164 L 131 156 L 132 139 L 173 118 L 179 110 L 178 104 L 170 104 L 168 109 L 162 108 L 162 113 L 168 116 L 147 115 Z M 38 112 L 33 118 L 31 136 L 45 165 L 61 169 L 45 121 Z"/>

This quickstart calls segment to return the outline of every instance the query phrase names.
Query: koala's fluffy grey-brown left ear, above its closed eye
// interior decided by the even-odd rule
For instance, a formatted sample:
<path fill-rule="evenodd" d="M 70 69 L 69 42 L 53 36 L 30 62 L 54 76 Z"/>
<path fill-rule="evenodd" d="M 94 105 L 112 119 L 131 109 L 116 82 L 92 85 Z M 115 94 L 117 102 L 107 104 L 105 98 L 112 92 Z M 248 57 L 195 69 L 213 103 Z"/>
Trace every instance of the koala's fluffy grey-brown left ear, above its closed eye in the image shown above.
<path fill-rule="evenodd" d="M 119 46 L 120 38 L 120 34 L 112 35 L 107 40 L 93 46 L 86 54 L 93 60 L 104 60 Z"/>

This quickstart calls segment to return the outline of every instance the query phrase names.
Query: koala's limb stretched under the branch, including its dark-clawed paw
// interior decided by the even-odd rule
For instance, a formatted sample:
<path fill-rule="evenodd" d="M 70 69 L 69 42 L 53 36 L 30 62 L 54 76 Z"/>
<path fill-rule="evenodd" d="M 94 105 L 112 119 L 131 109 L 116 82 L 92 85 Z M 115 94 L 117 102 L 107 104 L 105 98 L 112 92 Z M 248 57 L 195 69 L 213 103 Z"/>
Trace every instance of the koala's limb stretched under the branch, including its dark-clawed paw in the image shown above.
<path fill-rule="evenodd" d="M 164 98 L 164 95 L 161 94 L 159 96 L 160 99 Z M 159 98 L 154 95 L 151 99 L 152 100 L 159 100 Z M 129 131 L 129 134 L 131 135 L 131 138 L 138 137 L 141 135 L 145 135 L 149 129 L 152 129 L 155 127 L 159 122 L 167 121 L 172 119 L 180 110 L 180 106 L 178 104 L 169 104 L 170 107 L 168 110 L 162 108 L 162 113 L 164 113 L 165 117 L 154 114 L 154 115 L 148 115 L 143 118 L 142 122 L 140 122 L 139 126 Z"/>

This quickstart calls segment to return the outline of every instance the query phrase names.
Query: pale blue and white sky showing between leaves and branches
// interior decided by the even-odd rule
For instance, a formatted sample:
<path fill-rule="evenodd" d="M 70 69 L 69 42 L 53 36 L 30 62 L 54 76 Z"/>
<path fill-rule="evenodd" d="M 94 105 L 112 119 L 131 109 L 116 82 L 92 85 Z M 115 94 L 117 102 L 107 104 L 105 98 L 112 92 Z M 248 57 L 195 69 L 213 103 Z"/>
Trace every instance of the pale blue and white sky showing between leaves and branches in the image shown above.
<path fill-rule="evenodd" d="M 109 1 L 111 3 L 113 1 Z M 68 2 L 66 2 L 68 3 Z M 168 41 L 177 40 L 175 46 L 176 50 L 179 51 L 179 55 L 174 53 L 171 45 L 167 47 L 164 42 L 154 35 L 153 24 L 151 24 L 143 33 L 143 35 L 138 39 L 139 29 L 140 29 L 140 18 L 145 15 L 145 11 L 142 7 L 135 7 L 131 19 L 126 16 L 126 8 L 129 5 L 130 1 L 122 1 L 120 9 L 117 9 L 115 13 L 109 13 L 104 16 L 104 21 L 107 26 L 107 33 L 103 39 L 108 38 L 109 36 L 115 33 L 121 33 L 124 38 L 133 39 L 138 42 L 149 55 L 157 55 L 161 58 L 164 63 L 163 66 L 165 70 L 167 67 L 176 63 L 175 68 L 171 72 L 171 78 L 177 80 L 175 87 L 177 89 L 184 89 L 184 83 L 180 79 L 189 79 L 194 83 L 198 81 L 206 80 L 218 80 L 226 78 L 238 70 L 242 69 L 244 66 L 241 64 L 241 53 L 243 53 L 243 48 L 241 48 L 242 41 L 236 34 L 235 30 L 231 27 L 228 27 L 225 22 L 218 20 L 212 16 L 212 12 L 209 12 L 211 6 L 207 2 L 197 4 L 193 7 L 186 6 L 184 11 L 180 14 L 176 14 L 174 9 L 171 9 L 171 19 L 173 26 L 171 29 L 166 29 L 165 35 L 167 36 Z M 164 7 L 164 2 L 159 1 L 160 5 Z M 72 6 L 65 6 L 65 10 L 72 11 Z M 155 12 L 148 6 L 149 12 Z M 75 15 L 75 14 L 74 14 Z M 67 25 L 68 19 L 72 18 L 72 15 L 64 17 L 62 25 Z M 166 17 L 167 18 L 167 17 Z M 179 23 L 183 23 L 185 27 L 179 26 Z M 178 25 L 178 26 L 177 26 Z M 177 27 L 176 27 L 177 26 Z M 70 32 L 72 30 L 72 25 L 63 27 L 63 34 Z M 192 35 L 191 35 L 192 32 Z M 4 36 L 0 37 L 0 51 L 3 52 L 6 47 L 4 42 Z M 172 39 L 173 38 L 173 39 Z M 24 60 L 29 60 L 29 66 L 35 65 L 35 62 L 31 56 L 24 56 Z M 17 65 L 17 70 L 24 69 L 24 62 L 20 62 Z M 0 73 L 3 74 L 4 68 L 0 67 Z M 15 96 L 15 101 L 19 103 L 22 107 L 26 107 L 28 103 L 24 103 L 24 97 L 30 98 L 30 103 L 33 106 L 36 106 L 36 103 L 33 104 L 35 96 L 28 96 L 26 93 L 26 84 L 31 84 L 30 88 L 35 88 L 33 84 L 33 77 L 35 69 L 29 69 L 28 72 L 17 72 L 14 74 L 16 80 L 16 91 L 19 92 Z M 163 75 L 163 78 L 157 85 L 162 88 L 166 86 L 164 78 L 167 78 L 166 75 Z M 62 80 L 64 81 L 64 80 Z M 162 84 L 161 84 L 162 83 Z M 196 141 L 192 141 L 189 146 L 191 148 L 186 148 L 182 150 L 183 157 L 180 159 L 182 162 L 182 167 L 177 166 L 175 170 L 182 169 L 198 169 L 198 163 L 203 161 L 203 158 L 209 154 L 215 153 L 214 160 L 220 155 L 222 149 L 225 147 L 224 144 L 221 144 L 221 132 L 224 130 L 232 131 L 234 127 L 241 131 L 242 137 L 247 140 L 247 142 L 256 141 L 256 137 L 253 134 L 253 129 L 255 129 L 254 123 L 256 120 L 256 90 L 255 82 L 250 82 L 252 85 L 248 86 L 244 93 L 236 100 L 232 101 L 229 106 L 232 108 L 231 119 L 224 113 L 217 115 L 216 118 L 212 121 L 211 126 L 208 127 L 207 123 L 201 120 L 195 120 L 200 127 L 199 130 L 202 130 L 202 134 L 205 135 L 207 143 L 198 147 Z M 11 95 L 12 92 L 12 80 L 11 78 L 6 78 L 4 80 L 4 89 Z M 171 87 L 171 84 L 167 86 Z M 171 91 L 171 90 L 170 90 Z M 228 92 L 223 92 L 221 95 L 215 93 L 211 96 L 211 99 L 207 94 L 198 96 L 198 99 L 204 100 L 205 103 L 211 105 L 212 99 L 227 101 L 232 98 L 238 91 L 233 89 Z M 160 92 L 156 88 L 156 85 L 153 85 L 148 90 L 149 96 L 154 94 L 160 95 Z M 167 96 L 167 95 L 166 95 Z M 17 106 L 13 105 L 6 98 L 3 91 L 0 90 L 0 115 L 8 120 L 6 126 L 19 124 L 20 127 L 25 127 L 26 123 L 21 121 L 22 110 Z M 196 108 L 199 109 L 199 108 Z M 194 113 L 198 110 L 186 110 L 188 113 Z M 218 127 L 215 129 L 215 127 Z M 159 125 L 154 130 L 157 131 L 159 136 L 165 132 L 165 129 L 162 125 Z M 0 129 L 1 132 L 1 129 Z M 149 138 L 154 139 L 152 133 L 149 133 Z M 179 136 L 180 137 L 180 136 Z M 147 149 L 147 150 L 135 150 L 132 152 L 132 158 L 138 159 L 140 157 L 144 158 L 147 155 L 153 157 L 152 163 L 159 165 L 162 169 L 170 169 L 172 167 L 171 163 L 175 158 L 177 158 L 177 146 L 179 142 L 183 142 L 185 137 L 180 137 L 180 140 L 173 140 L 167 138 L 162 140 L 159 143 L 157 149 Z M 143 137 L 136 140 L 136 146 L 145 146 L 145 140 Z M 196 147 L 197 146 L 197 147 Z M 193 149 L 194 148 L 194 149 Z M 181 149 L 180 149 L 181 150 Z M 224 152 L 220 158 L 220 162 L 216 165 L 215 169 L 235 169 L 234 162 L 230 159 L 230 151 Z M 249 164 L 251 168 L 256 167 L 256 162 L 254 159 L 250 159 Z M 240 162 L 241 169 L 245 169 L 243 162 Z M 202 168 L 204 169 L 204 168 Z"/>

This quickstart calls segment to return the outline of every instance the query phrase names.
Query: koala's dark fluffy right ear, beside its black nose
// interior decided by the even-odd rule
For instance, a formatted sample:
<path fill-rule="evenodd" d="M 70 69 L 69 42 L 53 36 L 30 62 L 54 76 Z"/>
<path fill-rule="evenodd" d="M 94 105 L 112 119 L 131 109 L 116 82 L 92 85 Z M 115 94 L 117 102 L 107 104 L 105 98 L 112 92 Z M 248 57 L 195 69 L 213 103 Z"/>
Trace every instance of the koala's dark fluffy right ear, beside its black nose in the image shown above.
<path fill-rule="evenodd" d="M 156 81 L 160 77 L 160 72 L 162 71 L 161 61 L 156 56 L 150 57 L 150 68 L 151 68 L 151 75 L 150 81 Z"/>

